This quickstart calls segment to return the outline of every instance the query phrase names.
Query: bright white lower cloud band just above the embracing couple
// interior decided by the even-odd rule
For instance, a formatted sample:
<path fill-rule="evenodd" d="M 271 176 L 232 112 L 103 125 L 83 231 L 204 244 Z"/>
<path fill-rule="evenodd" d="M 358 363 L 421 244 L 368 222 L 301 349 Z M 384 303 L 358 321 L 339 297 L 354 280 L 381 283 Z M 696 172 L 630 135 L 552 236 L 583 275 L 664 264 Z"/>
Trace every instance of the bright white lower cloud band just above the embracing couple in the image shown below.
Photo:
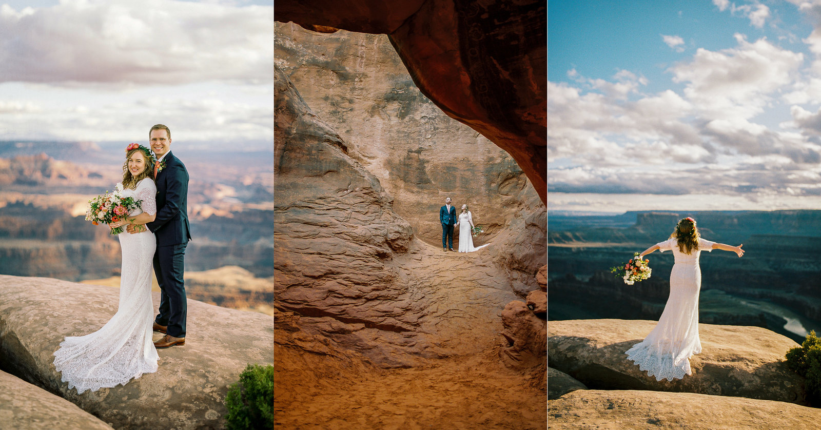
<path fill-rule="evenodd" d="M 0 85 L 0 90 L 15 92 L 10 88 L 14 86 Z M 242 95 L 247 89 L 255 89 L 257 98 Z M 44 87 L 36 94 L 46 102 L 0 102 L 0 140 L 133 142 L 142 141 L 145 130 L 156 123 L 172 127 L 175 142 L 181 144 L 200 141 L 231 147 L 241 143 L 266 149 L 273 140 L 273 92 L 259 85 L 148 87 L 113 97 L 85 89 Z"/>

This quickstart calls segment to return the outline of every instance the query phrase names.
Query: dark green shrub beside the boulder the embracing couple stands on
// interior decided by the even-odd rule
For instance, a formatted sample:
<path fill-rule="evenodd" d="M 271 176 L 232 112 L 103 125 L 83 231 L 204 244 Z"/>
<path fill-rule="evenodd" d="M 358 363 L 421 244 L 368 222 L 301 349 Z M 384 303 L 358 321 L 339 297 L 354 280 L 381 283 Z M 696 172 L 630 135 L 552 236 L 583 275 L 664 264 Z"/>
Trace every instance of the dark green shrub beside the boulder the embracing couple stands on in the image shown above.
<path fill-rule="evenodd" d="M 248 364 L 225 397 L 229 430 L 273 429 L 273 366 Z"/>

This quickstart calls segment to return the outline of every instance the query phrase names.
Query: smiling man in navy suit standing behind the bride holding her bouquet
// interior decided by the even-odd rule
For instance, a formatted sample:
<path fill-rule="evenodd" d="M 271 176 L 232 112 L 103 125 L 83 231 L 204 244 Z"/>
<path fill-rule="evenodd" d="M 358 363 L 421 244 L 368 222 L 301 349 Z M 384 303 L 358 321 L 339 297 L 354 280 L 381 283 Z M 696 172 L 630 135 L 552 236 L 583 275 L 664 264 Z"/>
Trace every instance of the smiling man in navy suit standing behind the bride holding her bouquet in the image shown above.
<path fill-rule="evenodd" d="M 161 350 L 173 345 L 186 344 L 186 288 L 183 285 L 183 258 L 191 240 L 186 200 L 188 198 L 188 171 L 179 158 L 171 153 L 171 130 L 157 124 L 149 130 L 149 144 L 157 156 L 154 182 L 157 184 L 157 217 L 144 226 L 128 226 L 128 231 L 144 231 L 147 226 L 157 239 L 154 253 L 154 274 L 163 294 L 159 313 L 154 318 L 154 331 L 164 333 L 154 342 Z"/>

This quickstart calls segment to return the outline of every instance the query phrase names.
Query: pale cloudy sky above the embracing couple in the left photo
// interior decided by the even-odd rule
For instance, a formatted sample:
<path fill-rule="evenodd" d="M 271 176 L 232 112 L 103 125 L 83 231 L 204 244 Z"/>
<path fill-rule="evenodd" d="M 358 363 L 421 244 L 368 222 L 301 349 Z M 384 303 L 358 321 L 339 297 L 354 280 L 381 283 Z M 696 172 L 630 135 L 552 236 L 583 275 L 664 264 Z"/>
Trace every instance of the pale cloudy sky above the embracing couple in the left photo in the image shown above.
<path fill-rule="evenodd" d="M 273 147 L 273 2 L 0 0 L 0 140 Z"/>

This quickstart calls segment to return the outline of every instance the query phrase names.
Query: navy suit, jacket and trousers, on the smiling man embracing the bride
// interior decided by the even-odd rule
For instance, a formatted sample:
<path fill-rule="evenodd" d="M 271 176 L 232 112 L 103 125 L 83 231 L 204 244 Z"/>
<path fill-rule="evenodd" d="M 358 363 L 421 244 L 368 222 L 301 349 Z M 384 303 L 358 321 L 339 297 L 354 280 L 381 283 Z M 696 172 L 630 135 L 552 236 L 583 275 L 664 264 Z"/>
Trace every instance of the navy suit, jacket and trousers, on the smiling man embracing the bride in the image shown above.
<path fill-rule="evenodd" d="M 186 287 L 183 281 L 186 246 L 191 240 L 188 224 L 188 171 L 179 158 L 167 153 L 165 167 L 157 172 L 157 217 L 146 226 L 157 238 L 154 253 L 154 274 L 163 294 L 159 313 L 154 318 L 161 326 L 168 326 L 168 336 L 186 336 Z"/>

